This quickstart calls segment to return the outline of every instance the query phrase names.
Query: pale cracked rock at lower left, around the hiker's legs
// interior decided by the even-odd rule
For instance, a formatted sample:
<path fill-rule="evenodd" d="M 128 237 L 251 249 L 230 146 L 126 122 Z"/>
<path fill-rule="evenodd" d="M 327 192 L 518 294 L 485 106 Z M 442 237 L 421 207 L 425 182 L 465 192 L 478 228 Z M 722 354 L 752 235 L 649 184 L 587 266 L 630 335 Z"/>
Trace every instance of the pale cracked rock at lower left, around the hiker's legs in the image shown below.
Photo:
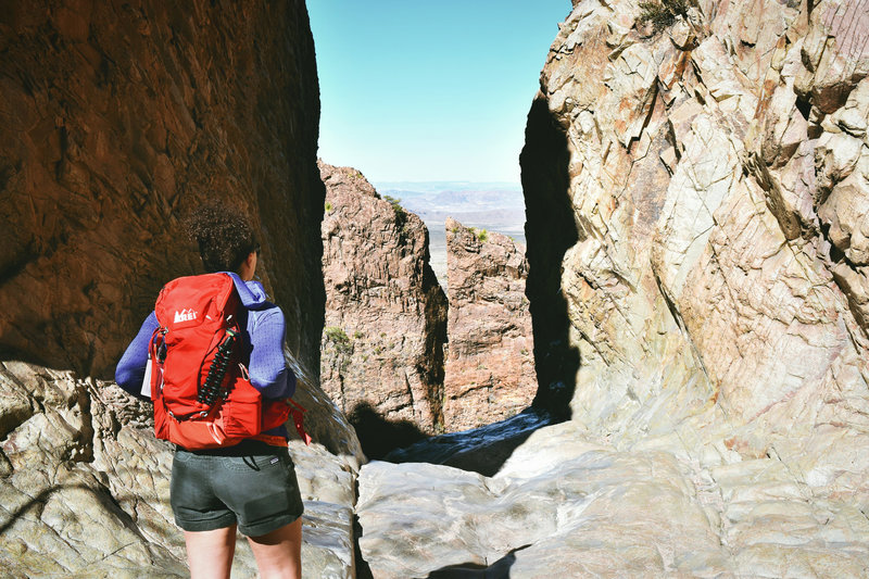
<path fill-rule="evenodd" d="M 290 441 L 305 502 L 305 574 L 353 568 L 355 432 L 307 377 L 295 399 L 315 442 Z M 0 557 L 9 577 L 189 577 L 169 506 L 172 445 L 149 402 L 117 386 L 22 362 L 0 363 Z M 327 431 L 324 432 L 324 431 Z M 234 576 L 253 577 L 247 541 Z"/>

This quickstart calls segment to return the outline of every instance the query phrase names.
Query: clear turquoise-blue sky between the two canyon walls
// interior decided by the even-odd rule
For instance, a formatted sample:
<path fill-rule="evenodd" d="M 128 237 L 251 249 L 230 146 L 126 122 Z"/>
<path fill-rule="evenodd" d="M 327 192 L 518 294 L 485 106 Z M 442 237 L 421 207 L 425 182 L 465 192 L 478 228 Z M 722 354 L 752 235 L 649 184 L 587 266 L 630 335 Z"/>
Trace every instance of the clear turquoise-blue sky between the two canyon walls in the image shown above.
<path fill-rule="evenodd" d="M 307 0 L 319 153 L 374 182 L 519 181 L 570 0 Z"/>

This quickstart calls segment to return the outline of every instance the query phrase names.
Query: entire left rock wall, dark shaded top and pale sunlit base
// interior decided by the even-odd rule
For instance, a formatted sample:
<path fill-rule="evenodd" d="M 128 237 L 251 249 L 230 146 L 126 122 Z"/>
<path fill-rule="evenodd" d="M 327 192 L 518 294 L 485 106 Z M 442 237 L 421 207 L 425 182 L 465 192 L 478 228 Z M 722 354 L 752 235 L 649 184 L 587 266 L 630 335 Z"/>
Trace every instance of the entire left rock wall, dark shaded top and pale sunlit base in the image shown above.
<path fill-rule="evenodd" d="M 217 199 L 260 234 L 310 411 L 315 443 L 290 448 L 305 576 L 352 576 L 363 456 L 316 387 L 324 189 L 304 3 L 15 2 L 0 54 L 2 572 L 188 575 L 150 404 L 83 376 L 111 375 L 161 285 L 198 270 L 182 216 Z M 255 574 L 245 542 L 234 571 Z"/>

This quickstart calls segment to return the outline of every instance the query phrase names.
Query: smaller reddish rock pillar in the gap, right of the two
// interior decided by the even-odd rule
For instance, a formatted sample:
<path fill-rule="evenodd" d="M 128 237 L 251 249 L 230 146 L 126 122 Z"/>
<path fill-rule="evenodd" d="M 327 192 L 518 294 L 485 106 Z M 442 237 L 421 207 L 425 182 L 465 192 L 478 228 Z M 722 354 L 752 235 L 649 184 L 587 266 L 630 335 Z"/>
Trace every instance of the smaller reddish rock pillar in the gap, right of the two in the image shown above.
<path fill-rule="evenodd" d="M 446 219 L 449 349 L 443 381 L 448 431 L 492 424 L 537 393 L 525 248 L 509 237 Z"/>

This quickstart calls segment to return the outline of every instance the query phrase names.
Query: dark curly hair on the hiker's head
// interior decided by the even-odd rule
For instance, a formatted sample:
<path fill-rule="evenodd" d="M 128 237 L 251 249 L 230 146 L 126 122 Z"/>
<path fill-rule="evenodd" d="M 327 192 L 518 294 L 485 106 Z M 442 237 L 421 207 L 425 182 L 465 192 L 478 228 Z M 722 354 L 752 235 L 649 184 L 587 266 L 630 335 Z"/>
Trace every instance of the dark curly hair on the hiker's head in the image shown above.
<path fill-rule="evenodd" d="M 260 244 L 250 223 L 238 207 L 210 202 L 190 213 L 188 235 L 199 244 L 199 256 L 209 273 L 238 272 Z"/>

